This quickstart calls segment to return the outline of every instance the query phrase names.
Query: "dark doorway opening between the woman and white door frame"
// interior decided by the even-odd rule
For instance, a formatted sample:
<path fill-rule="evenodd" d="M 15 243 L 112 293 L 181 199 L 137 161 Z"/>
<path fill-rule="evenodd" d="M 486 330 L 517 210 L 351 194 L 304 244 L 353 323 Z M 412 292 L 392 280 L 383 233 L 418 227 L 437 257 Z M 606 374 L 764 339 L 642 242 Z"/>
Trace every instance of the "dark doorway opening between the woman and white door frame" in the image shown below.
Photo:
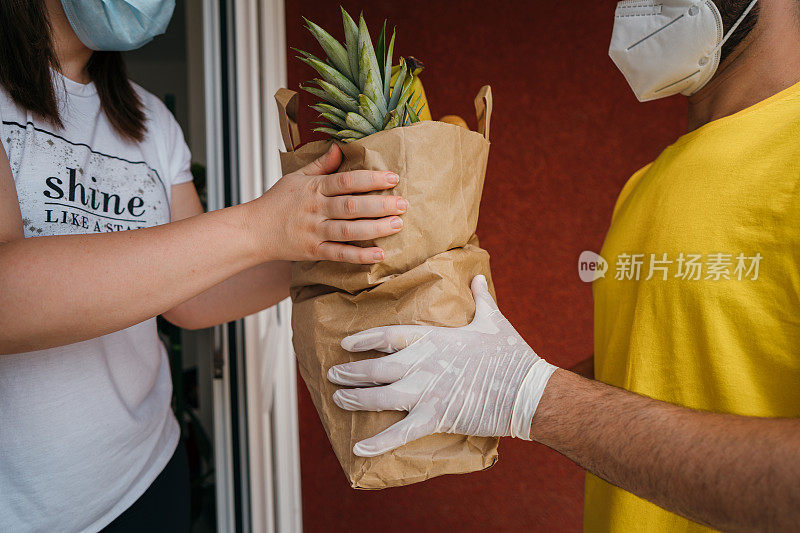
<path fill-rule="evenodd" d="M 181 126 L 195 187 L 207 208 L 202 17 L 200 3 L 177 0 L 167 32 L 125 59 L 129 77 L 161 99 Z M 160 318 L 158 325 L 170 358 L 172 408 L 189 456 L 193 531 L 217 531 L 213 331 L 184 331 Z"/>

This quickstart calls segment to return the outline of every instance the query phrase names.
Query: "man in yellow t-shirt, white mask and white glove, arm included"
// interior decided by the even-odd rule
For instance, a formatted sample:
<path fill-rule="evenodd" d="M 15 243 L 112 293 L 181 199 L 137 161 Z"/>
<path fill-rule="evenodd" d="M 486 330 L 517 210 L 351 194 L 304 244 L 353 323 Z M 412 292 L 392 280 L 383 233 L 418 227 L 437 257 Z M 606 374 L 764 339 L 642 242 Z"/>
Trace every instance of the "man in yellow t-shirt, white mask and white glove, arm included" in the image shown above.
<path fill-rule="evenodd" d="M 615 207 L 598 381 L 540 359 L 477 277 L 468 326 L 342 341 L 391 355 L 333 367 L 361 387 L 334 401 L 409 412 L 354 453 L 436 432 L 535 439 L 590 472 L 587 530 L 797 530 L 800 5 L 621 2 L 611 56 L 640 100 L 680 92 L 690 110 Z"/>

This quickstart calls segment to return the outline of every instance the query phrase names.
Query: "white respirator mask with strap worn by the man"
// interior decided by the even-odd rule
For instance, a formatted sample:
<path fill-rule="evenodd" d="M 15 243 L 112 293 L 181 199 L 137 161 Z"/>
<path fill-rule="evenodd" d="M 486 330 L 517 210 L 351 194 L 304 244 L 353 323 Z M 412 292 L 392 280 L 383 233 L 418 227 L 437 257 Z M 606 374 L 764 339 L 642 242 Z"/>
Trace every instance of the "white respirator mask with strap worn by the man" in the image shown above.
<path fill-rule="evenodd" d="M 719 67 L 722 45 L 758 0 L 723 35 L 711 0 L 626 0 L 617 4 L 608 55 L 640 102 L 691 96 Z"/>

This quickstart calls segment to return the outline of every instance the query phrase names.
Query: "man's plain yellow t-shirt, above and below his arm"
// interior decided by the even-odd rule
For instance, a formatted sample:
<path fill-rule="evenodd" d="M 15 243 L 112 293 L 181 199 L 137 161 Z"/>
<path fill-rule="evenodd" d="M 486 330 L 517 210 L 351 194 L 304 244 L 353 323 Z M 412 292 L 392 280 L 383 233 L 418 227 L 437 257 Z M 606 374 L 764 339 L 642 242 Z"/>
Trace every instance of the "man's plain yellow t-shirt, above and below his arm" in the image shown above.
<path fill-rule="evenodd" d="M 596 378 L 800 417 L 799 254 L 800 83 L 684 135 L 625 185 L 593 286 Z M 592 475 L 584 527 L 707 530 Z"/>

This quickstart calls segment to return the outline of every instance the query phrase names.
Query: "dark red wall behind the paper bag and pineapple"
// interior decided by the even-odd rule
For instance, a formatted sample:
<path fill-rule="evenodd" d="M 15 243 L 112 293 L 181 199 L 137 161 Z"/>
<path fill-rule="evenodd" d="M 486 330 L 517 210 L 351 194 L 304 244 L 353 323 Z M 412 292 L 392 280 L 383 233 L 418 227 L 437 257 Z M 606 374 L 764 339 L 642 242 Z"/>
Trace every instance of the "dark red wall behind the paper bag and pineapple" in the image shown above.
<path fill-rule="evenodd" d="M 611 0 L 342 0 L 384 18 L 395 50 L 422 59 L 434 118 L 475 128 L 473 97 L 491 84 L 492 151 L 478 235 L 491 253 L 500 308 L 554 364 L 592 354 L 592 300 L 577 275 L 599 251 L 627 178 L 680 135 L 685 102 L 639 104 L 608 58 Z M 318 52 L 301 16 L 341 37 L 339 2 L 286 0 L 289 46 Z M 289 54 L 289 86 L 312 71 Z M 304 97 L 308 103 L 308 97 Z M 301 106 L 310 138 L 313 115 Z M 504 439 L 491 469 L 377 492 L 349 488 L 300 384 L 303 520 L 307 531 L 482 529 L 576 531 L 583 471 L 557 453 Z"/>

